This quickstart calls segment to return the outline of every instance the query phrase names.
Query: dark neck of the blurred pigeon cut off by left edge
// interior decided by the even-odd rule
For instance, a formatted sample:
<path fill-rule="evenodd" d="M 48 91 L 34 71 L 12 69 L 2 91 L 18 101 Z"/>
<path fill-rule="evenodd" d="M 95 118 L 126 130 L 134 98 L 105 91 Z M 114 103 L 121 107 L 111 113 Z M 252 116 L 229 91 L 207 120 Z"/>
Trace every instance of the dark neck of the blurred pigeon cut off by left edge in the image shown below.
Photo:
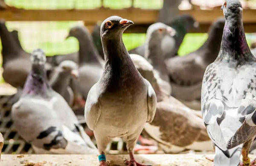
<path fill-rule="evenodd" d="M 3 66 L 6 61 L 18 56 L 19 48 L 14 38 L 6 28 L 5 24 L 0 24 L 0 38 L 2 41 Z"/>

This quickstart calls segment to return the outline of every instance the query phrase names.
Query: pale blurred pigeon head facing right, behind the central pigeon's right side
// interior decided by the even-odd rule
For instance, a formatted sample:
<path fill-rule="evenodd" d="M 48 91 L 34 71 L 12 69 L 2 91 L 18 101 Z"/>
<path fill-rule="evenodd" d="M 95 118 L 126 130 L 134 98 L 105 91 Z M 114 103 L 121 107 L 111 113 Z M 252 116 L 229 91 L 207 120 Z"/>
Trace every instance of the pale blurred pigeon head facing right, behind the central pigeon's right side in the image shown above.
<path fill-rule="evenodd" d="M 164 23 L 154 23 L 148 27 L 147 37 L 163 39 L 165 36 L 173 37 L 176 34 L 175 29 Z"/>

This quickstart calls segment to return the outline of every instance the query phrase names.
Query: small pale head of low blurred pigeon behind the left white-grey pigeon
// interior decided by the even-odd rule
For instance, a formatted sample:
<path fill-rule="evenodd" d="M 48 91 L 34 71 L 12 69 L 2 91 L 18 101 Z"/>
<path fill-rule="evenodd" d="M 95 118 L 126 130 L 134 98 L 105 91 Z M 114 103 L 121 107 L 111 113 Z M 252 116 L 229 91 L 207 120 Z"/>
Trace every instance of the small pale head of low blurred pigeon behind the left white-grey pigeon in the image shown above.
<path fill-rule="evenodd" d="M 58 66 L 59 72 L 70 73 L 73 77 L 78 78 L 78 65 L 71 60 L 64 60 Z"/>

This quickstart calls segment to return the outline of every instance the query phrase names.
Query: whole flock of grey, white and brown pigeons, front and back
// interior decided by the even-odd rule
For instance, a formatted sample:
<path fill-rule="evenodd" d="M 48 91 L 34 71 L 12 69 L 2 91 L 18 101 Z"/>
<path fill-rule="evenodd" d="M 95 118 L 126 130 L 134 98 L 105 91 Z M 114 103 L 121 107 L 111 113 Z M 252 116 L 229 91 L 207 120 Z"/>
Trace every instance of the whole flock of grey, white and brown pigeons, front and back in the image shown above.
<path fill-rule="evenodd" d="M 114 137 L 127 143 L 128 166 L 144 166 L 134 159 L 143 129 L 166 153 L 214 149 L 215 166 L 253 166 L 256 58 L 239 0 L 225 0 L 221 9 L 224 18 L 212 23 L 207 41 L 183 57 L 177 50 L 197 28 L 189 15 L 152 24 L 145 44 L 129 52 L 122 33 L 131 20 L 108 17 L 92 35 L 75 26 L 67 38 L 77 38 L 79 52 L 53 57 L 25 52 L 1 20 L 3 78 L 18 89 L 11 112 L 17 132 L 38 154 L 99 154 L 100 166 L 108 165 L 105 149 Z M 183 104 L 200 99 L 202 114 Z M 97 148 L 74 105 L 84 106 Z"/>

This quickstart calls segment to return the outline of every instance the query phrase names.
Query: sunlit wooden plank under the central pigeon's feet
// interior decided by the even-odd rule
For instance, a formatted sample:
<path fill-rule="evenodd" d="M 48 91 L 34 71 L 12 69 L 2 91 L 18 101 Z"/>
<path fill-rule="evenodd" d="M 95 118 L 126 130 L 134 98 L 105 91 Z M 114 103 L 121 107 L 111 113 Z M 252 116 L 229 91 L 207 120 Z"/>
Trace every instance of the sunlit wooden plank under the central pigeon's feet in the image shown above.
<path fill-rule="evenodd" d="M 213 157 L 213 155 L 207 155 Z M 127 166 L 128 155 L 107 155 L 109 166 Z M 152 166 L 212 166 L 204 155 L 135 155 L 138 162 Z M 3 166 L 99 166 L 97 155 L 2 155 Z M 40 165 L 39 163 L 44 163 Z M 30 165 L 29 165 L 30 166 Z"/>

